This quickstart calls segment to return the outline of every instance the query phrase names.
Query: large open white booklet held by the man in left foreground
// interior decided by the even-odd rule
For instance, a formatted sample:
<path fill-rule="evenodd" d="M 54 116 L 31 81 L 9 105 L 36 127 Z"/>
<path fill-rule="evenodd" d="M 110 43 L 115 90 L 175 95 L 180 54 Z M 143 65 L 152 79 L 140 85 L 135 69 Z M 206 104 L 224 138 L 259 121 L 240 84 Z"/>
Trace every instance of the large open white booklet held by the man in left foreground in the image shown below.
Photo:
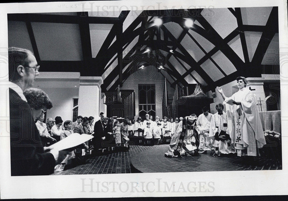
<path fill-rule="evenodd" d="M 78 134 L 73 133 L 69 135 L 68 137 L 64 138 L 63 140 L 60 140 L 59 142 L 56 142 L 55 144 L 52 144 L 49 146 L 49 148 L 56 149 L 56 150 L 64 150 L 69 149 L 71 147 L 75 147 L 79 144 L 82 144 L 90 139 L 94 138 L 92 135 L 88 134 Z"/>

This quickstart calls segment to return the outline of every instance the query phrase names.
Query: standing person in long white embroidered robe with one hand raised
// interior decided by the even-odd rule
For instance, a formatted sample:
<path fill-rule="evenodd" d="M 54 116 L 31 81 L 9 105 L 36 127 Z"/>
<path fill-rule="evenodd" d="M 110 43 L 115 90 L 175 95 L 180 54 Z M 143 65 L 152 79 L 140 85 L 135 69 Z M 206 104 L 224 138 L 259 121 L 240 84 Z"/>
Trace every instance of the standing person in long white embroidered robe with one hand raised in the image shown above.
<path fill-rule="evenodd" d="M 245 77 L 238 77 L 236 80 L 239 91 L 229 98 L 217 87 L 226 106 L 227 133 L 231 136 L 238 156 L 257 156 L 258 148 L 262 148 L 266 141 L 256 107 L 256 97 L 246 88 Z"/>

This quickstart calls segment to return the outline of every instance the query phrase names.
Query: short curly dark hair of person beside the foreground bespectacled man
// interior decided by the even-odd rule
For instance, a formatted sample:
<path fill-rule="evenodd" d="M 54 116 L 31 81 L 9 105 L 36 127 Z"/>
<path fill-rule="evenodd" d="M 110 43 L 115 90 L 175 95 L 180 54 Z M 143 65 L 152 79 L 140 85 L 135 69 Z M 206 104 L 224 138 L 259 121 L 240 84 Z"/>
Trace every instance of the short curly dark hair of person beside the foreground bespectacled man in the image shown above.
<path fill-rule="evenodd" d="M 35 110 L 41 110 L 42 108 L 51 109 L 52 102 L 48 95 L 42 90 L 37 88 L 25 89 L 23 92 L 27 103 L 35 108 Z"/>

